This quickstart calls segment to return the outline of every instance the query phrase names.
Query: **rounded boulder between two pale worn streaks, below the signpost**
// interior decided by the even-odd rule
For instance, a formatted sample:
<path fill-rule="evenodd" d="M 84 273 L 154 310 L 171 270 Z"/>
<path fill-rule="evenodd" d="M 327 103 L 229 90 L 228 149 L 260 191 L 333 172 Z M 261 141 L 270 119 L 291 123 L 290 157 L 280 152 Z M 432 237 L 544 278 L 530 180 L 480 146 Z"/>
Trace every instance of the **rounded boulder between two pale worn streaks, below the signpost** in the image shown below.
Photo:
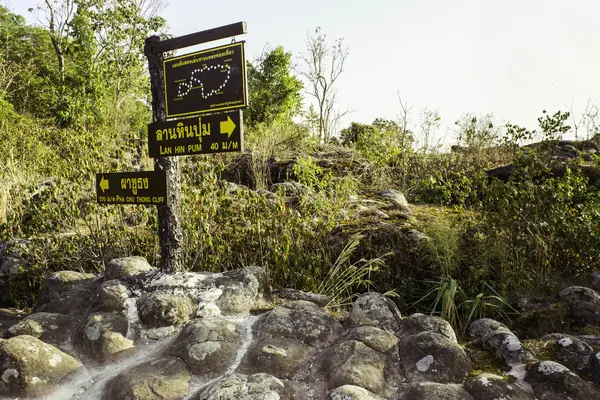
<path fill-rule="evenodd" d="M 225 318 L 202 318 L 188 323 L 171 346 L 195 375 L 222 374 L 237 356 L 243 328 Z"/>

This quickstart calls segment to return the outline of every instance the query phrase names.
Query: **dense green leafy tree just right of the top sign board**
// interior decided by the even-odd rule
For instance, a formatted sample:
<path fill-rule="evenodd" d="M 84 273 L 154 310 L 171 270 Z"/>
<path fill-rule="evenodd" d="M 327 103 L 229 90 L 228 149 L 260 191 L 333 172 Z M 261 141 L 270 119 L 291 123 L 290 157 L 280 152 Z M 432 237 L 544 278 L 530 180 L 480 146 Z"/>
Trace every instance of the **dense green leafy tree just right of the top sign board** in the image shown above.
<path fill-rule="evenodd" d="M 249 106 L 244 113 L 248 125 L 270 124 L 291 119 L 302 108 L 302 81 L 291 74 L 292 53 L 282 46 L 263 51 L 248 68 Z"/>

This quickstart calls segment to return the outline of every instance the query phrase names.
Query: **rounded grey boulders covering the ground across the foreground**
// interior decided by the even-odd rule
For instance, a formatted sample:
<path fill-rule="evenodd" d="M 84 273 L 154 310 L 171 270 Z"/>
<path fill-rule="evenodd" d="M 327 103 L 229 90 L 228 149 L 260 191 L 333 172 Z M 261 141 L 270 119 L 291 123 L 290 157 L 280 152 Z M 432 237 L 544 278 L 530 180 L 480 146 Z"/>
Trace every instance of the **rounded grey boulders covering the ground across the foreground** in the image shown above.
<path fill-rule="evenodd" d="M 0 398 L 600 399 L 598 336 L 522 341 L 480 319 L 459 342 L 446 321 L 402 316 L 378 293 L 341 319 L 328 301 L 269 292 L 258 267 L 166 275 L 130 257 L 98 276 L 58 272 L 32 314 L 0 312 Z M 561 291 L 561 304 L 600 323 L 592 288 Z M 530 321 L 549 309 L 521 306 Z"/>

